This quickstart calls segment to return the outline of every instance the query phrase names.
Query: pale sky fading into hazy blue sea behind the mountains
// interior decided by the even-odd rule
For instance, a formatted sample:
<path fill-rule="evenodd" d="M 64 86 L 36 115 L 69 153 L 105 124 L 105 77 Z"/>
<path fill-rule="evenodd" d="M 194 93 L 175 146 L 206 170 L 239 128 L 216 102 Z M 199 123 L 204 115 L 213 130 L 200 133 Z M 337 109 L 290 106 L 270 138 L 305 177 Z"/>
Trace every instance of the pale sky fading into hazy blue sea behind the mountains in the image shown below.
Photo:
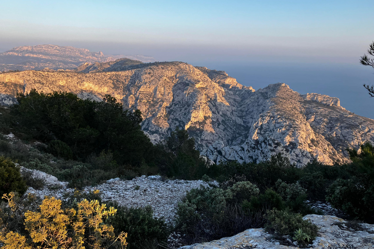
<path fill-rule="evenodd" d="M 0 52 L 55 44 L 224 70 L 254 89 L 283 82 L 374 119 L 373 0 L 0 0 Z M 4 11 L 5 10 L 5 11 Z"/>

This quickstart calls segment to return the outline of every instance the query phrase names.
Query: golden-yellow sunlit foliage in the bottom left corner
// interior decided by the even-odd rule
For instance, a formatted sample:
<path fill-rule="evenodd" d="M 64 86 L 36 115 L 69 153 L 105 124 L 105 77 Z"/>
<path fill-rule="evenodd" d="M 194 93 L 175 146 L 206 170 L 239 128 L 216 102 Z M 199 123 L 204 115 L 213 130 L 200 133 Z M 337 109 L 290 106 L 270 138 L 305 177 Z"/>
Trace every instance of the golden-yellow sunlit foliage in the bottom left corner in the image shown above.
<path fill-rule="evenodd" d="M 12 198 L 8 196 L 9 203 L 12 203 Z M 127 233 L 115 236 L 113 227 L 105 224 L 106 219 L 117 212 L 116 209 L 107 209 L 98 200 L 87 199 L 77 206 L 77 210 L 61 209 L 61 200 L 46 197 L 38 211 L 24 214 L 29 241 L 3 227 L 0 243 L 4 249 L 123 249 L 127 246 Z"/>

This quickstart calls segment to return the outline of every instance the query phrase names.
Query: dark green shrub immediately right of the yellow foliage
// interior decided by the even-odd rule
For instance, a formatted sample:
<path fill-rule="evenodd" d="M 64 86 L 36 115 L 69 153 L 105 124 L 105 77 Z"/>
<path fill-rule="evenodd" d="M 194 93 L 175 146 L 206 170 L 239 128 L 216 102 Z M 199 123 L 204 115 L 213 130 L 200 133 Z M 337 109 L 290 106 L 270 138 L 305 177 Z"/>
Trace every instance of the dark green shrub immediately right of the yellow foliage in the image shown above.
<path fill-rule="evenodd" d="M 117 209 L 117 213 L 110 219 L 114 231 L 126 231 L 129 249 L 140 248 L 148 241 L 150 243 L 165 242 L 169 229 L 163 219 L 153 218 L 150 206 L 145 208 L 119 207 L 111 203 Z"/>

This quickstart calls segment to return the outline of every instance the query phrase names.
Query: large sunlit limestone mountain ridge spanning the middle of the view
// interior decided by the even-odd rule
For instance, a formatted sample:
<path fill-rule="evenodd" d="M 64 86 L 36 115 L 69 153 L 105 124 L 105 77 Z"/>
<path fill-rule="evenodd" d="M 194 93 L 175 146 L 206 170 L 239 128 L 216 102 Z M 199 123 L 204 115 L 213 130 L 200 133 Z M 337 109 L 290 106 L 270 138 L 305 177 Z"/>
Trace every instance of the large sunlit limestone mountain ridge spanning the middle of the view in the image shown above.
<path fill-rule="evenodd" d="M 96 100 L 111 94 L 125 108 L 142 111 L 142 129 L 153 142 L 183 127 L 215 162 L 259 162 L 282 153 L 299 166 L 311 160 L 333 164 L 349 160 L 347 147 L 374 143 L 374 120 L 344 109 L 337 98 L 301 95 L 283 83 L 255 91 L 224 71 L 183 62 L 119 60 L 77 71 L 89 73 L 1 73 L 0 102 L 9 104 L 17 91 L 31 89 Z"/>

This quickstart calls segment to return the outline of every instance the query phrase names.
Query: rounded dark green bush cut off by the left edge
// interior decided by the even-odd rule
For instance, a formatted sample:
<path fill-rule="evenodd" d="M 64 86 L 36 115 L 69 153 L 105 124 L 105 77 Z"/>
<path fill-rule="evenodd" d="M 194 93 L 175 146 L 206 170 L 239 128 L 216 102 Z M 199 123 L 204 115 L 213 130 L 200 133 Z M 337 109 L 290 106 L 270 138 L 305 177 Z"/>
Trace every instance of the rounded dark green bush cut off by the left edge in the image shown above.
<path fill-rule="evenodd" d="M 25 193 L 26 183 L 16 166 L 9 158 L 0 157 L 0 196 L 12 191 Z"/>

